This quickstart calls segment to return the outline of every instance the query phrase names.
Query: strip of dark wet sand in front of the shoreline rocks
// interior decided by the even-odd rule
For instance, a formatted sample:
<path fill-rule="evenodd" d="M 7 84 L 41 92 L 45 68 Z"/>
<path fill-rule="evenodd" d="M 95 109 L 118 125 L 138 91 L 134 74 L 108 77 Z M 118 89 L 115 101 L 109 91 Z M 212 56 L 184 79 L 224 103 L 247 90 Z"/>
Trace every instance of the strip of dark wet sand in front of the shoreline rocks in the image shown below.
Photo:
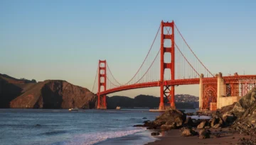
<path fill-rule="evenodd" d="M 198 132 L 198 130 L 196 130 Z M 217 131 L 217 132 L 215 132 Z M 179 129 L 173 129 L 169 132 L 161 132 L 162 137 L 157 137 L 159 140 L 145 144 L 145 145 L 196 145 L 196 144 L 238 144 L 239 139 L 242 137 L 249 138 L 244 134 L 232 133 L 227 128 L 222 129 L 210 129 L 210 139 L 199 139 L 198 136 L 194 137 L 181 137 L 181 131 Z M 214 138 L 215 134 L 220 134 L 220 138 Z"/>

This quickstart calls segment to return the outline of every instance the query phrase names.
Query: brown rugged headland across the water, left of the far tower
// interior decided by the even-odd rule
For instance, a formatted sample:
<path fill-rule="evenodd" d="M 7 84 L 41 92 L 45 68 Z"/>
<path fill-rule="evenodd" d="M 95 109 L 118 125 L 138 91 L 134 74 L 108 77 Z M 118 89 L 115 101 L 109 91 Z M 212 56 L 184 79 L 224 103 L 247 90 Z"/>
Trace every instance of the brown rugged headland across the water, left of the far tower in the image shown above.
<path fill-rule="evenodd" d="M 0 75 L 0 108 L 95 108 L 96 96 L 67 81 L 38 83 Z M 2 101 L 3 100 L 3 101 Z"/>

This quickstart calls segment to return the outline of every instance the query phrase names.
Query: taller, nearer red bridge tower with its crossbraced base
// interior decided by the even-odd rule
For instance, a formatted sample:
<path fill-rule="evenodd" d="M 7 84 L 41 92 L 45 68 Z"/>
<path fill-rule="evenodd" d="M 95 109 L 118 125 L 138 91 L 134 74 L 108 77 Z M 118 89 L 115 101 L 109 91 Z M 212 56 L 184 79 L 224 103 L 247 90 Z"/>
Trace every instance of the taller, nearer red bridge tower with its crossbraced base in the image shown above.
<path fill-rule="evenodd" d="M 166 85 L 166 81 L 164 81 L 164 70 L 171 69 L 171 80 L 175 79 L 175 49 L 174 49 L 174 21 L 169 23 L 168 21 L 165 23 L 161 21 L 161 57 L 160 57 L 160 104 L 159 110 L 165 110 L 164 106 L 164 96 L 169 100 L 171 108 L 175 108 L 175 100 L 174 100 L 174 86 Z M 164 34 L 164 29 L 171 30 L 171 32 L 167 32 Z M 171 46 L 166 47 L 164 42 L 170 41 Z M 164 54 L 171 54 L 171 62 L 164 62 Z"/>

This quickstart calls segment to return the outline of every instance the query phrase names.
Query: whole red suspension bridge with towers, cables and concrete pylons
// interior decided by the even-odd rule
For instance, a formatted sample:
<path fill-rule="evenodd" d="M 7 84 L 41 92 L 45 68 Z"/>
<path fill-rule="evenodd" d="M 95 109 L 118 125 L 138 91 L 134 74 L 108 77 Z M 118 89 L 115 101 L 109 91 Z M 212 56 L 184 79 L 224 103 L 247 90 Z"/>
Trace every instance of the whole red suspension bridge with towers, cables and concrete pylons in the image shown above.
<path fill-rule="evenodd" d="M 107 94 L 159 86 L 159 110 L 165 110 L 164 97 L 167 98 L 169 106 L 175 108 L 175 86 L 200 84 L 200 108 L 215 110 L 221 106 L 217 103 L 221 99 L 220 95 L 240 97 L 255 86 L 255 80 L 256 75 L 213 76 L 191 50 L 174 21 L 161 21 L 151 47 L 134 76 L 126 83 L 119 83 L 107 61 L 99 60 L 92 92 L 97 92 L 97 108 L 106 109 Z M 220 91 L 223 89 L 224 91 Z"/>

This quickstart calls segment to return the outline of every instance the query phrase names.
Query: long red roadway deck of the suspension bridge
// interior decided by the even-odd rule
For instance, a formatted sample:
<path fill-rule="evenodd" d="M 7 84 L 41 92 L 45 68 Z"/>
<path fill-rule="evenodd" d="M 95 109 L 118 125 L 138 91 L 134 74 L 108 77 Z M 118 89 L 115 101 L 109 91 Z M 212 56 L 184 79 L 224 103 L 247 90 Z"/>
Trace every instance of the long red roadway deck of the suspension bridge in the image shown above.
<path fill-rule="evenodd" d="M 256 75 L 241 75 L 241 76 L 223 76 L 225 83 L 238 83 L 240 79 L 256 79 Z M 192 85 L 199 84 L 200 79 L 176 79 L 176 80 L 168 80 L 163 82 L 165 86 L 178 86 L 178 85 Z M 217 77 L 203 78 L 203 83 L 217 83 Z M 161 82 L 153 81 L 148 83 L 136 83 L 131 85 L 119 86 L 116 88 L 111 88 L 106 91 L 100 92 L 100 95 L 107 95 L 110 93 L 116 93 L 119 91 L 131 90 L 136 88 L 149 88 L 160 86 Z M 99 95 L 99 93 L 97 93 Z"/>

